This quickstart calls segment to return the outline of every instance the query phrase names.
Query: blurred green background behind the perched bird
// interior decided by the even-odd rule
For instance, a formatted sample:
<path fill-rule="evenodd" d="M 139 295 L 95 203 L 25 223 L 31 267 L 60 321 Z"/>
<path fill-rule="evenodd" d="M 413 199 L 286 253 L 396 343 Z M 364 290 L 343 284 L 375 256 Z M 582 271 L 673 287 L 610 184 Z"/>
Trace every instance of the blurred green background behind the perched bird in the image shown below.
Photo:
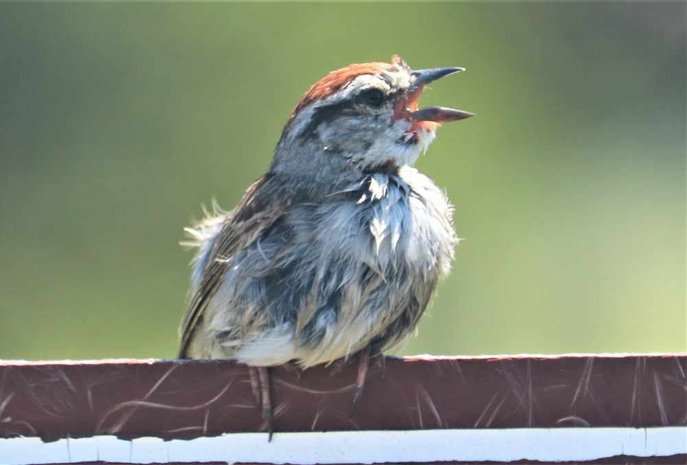
<path fill-rule="evenodd" d="M 216 196 L 328 71 L 423 105 L 453 273 L 402 354 L 686 350 L 684 3 L 0 3 L 0 358 L 172 358 Z"/>

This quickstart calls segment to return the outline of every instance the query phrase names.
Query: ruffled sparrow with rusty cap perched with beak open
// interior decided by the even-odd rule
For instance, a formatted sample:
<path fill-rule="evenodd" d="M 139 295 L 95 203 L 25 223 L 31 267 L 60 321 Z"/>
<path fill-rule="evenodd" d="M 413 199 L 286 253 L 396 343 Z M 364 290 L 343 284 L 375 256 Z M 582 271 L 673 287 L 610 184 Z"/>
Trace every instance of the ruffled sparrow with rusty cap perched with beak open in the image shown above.
<path fill-rule="evenodd" d="M 186 229 L 197 251 L 178 356 L 248 365 L 270 438 L 269 367 L 358 356 L 354 406 L 370 357 L 412 336 L 449 273 L 453 207 L 414 163 L 440 124 L 473 116 L 418 108 L 427 84 L 458 71 L 393 56 L 328 73 L 238 205 Z"/>

